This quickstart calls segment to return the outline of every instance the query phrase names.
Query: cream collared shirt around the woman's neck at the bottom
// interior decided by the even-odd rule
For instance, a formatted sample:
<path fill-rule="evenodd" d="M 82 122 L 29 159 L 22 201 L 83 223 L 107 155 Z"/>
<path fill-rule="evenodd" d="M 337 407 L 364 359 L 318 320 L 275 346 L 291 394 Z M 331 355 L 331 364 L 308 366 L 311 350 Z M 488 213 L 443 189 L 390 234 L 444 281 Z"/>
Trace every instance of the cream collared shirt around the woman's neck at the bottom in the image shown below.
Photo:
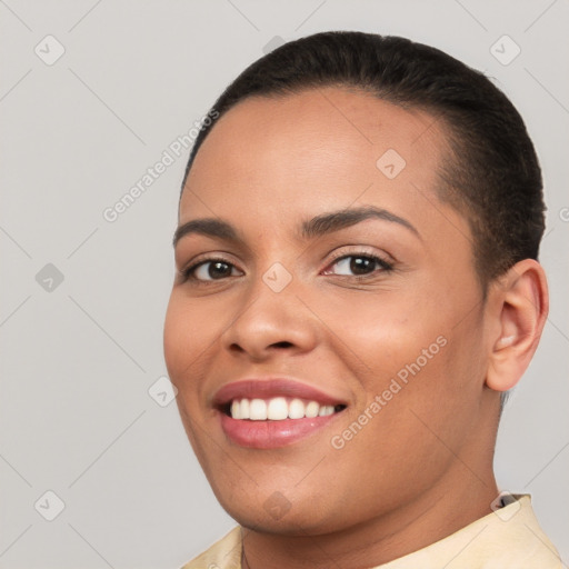
<path fill-rule="evenodd" d="M 539 527 L 531 497 L 513 498 L 456 533 L 373 569 L 563 569 Z M 181 569 L 241 569 L 241 528 Z"/>

